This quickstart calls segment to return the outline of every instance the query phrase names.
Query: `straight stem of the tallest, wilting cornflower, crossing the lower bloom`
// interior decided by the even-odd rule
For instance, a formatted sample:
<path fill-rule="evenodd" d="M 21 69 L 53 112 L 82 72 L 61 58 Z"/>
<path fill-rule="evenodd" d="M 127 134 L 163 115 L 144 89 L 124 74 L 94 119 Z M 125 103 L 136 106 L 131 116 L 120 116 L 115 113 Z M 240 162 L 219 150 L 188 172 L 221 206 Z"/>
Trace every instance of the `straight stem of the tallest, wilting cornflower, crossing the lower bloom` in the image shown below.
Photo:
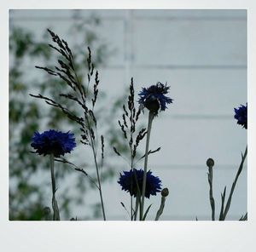
<path fill-rule="evenodd" d="M 142 193 L 142 203 L 140 207 L 140 221 L 143 221 L 143 208 L 144 208 L 144 198 L 146 192 L 146 183 L 147 183 L 147 169 L 148 169 L 148 148 L 149 148 L 149 139 L 150 132 L 152 128 L 152 122 L 154 119 L 154 113 L 148 113 L 148 131 L 147 131 L 147 140 L 146 140 L 146 150 L 145 150 L 145 159 L 144 159 L 144 174 L 143 174 L 143 193 Z"/>

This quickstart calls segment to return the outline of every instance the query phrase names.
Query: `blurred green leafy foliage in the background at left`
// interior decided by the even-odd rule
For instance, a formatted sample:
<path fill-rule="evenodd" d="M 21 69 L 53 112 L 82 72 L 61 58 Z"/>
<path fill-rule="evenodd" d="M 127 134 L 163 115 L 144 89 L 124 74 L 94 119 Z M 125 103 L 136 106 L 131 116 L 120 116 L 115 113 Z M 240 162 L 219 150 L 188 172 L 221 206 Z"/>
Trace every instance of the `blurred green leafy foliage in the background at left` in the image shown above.
<path fill-rule="evenodd" d="M 113 49 L 109 49 L 109 45 L 103 42 L 96 33 L 96 27 L 101 26 L 101 21 L 98 18 L 90 17 L 88 20 L 83 20 L 78 17 L 79 14 L 76 14 L 77 19 L 73 20 L 73 25 L 70 27 L 71 38 L 68 37 L 68 43 L 70 40 L 73 43 L 74 36 L 81 38 L 77 39 L 74 45 L 69 44 L 73 49 L 79 78 L 83 82 L 86 77 L 87 46 L 90 46 L 92 50 L 95 66 L 102 66 L 113 54 Z M 32 99 L 29 94 L 47 94 L 55 100 L 64 99 L 70 110 L 77 110 L 78 108 L 69 100 L 59 97 L 60 93 L 68 94 L 65 83 L 32 67 L 32 64 L 52 67 L 56 62 L 55 54 L 48 46 L 50 40 L 47 32 L 44 31 L 42 38 L 38 40 L 32 31 L 10 24 L 9 220 L 44 220 L 44 207 L 50 206 L 51 202 L 49 160 L 47 157 L 39 157 L 31 152 L 32 135 L 36 130 L 44 131 L 47 129 L 71 130 L 76 135 L 79 132 L 79 127 L 59 110 L 45 105 L 41 100 Z M 83 43 L 79 43 L 79 41 Z M 28 69 L 26 66 L 30 68 Z M 101 94 L 100 87 L 99 100 L 102 100 L 102 104 L 104 104 L 104 100 L 107 98 L 107 94 Z M 111 146 L 115 145 L 125 152 L 126 146 L 116 134 L 117 123 L 116 120 L 113 120 L 113 117 L 120 114 L 119 110 L 123 102 L 123 97 L 116 98 L 113 101 L 113 106 L 104 111 L 102 108 L 105 106 L 99 106 L 96 115 L 99 124 L 107 126 L 104 129 L 105 132 L 101 132 L 101 134 L 106 134 L 106 149 L 110 150 L 112 149 Z M 79 143 L 79 139 L 77 142 Z M 108 152 L 109 155 L 115 154 Z M 77 163 L 79 159 L 74 158 L 74 160 L 85 170 L 90 166 L 89 162 Z M 57 185 L 61 187 L 57 192 L 61 220 L 70 220 L 71 217 L 77 216 L 76 213 L 71 213 L 71 209 L 76 205 L 85 206 L 84 194 L 88 190 L 96 188 L 84 175 L 73 171 L 67 165 L 57 163 L 56 166 Z M 90 175 L 91 173 L 92 176 L 95 175 L 94 171 L 90 170 Z M 105 165 L 102 171 L 102 181 L 113 178 L 113 175 L 115 175 L 113 167 Z M 74 181 L 72 185 L 70 185 L 71 180 Z M 86 202 L 86 204 L 92 208 L 92 211 L 91 213 L 84 213 L 84 216 L 78 216 L 78 220 L 98 218 L 100 215 L 98 198 L 96 203 Z"/>

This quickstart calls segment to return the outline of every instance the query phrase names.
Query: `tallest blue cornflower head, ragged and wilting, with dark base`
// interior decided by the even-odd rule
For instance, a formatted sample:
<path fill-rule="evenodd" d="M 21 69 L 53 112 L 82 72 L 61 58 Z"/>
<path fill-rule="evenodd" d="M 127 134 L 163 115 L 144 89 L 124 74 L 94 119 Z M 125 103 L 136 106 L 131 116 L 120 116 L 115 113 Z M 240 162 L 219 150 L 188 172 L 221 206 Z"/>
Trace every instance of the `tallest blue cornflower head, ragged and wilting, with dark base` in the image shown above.
<path fill-rule="evenodd" d="M 170 87 L 160 82 L 150 86 L 148 89 L 143 88 L 138 94 L 140 96 L 138 102 L 140 105 L 147 107 L 150 112 L 154 112 L 154 114 L 157 114 L 159 109 L 165 111 L 166 104 L 172 103 L 172 99 L 165 95 L 169 89 Z"/>

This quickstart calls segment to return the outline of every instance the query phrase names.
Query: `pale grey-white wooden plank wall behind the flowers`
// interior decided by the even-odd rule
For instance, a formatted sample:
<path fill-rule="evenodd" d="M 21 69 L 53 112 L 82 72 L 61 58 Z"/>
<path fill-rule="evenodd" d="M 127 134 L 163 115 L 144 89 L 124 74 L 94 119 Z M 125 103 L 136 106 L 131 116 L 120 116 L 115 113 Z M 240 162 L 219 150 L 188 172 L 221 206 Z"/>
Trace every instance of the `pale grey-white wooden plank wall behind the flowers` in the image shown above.
<path fill-rule="evenodd" d="M 174 102 L 152 129 L 150 148 L 161 146 L 161 151 L 149 158 L 149 169 L 170 191 L 162 220 L 210 220 L 206 160 L 216 163 L 218 213 L 220 192 L 225 185 L 230 192 L 247 145 L 247 130 L 233 118 L 234 107 L 247 102 L 247 11 L 11 10 L 10 20 L 38 35 L 51 27 L 66 37 L 74 15 L 85 19 L 91 13 L 101 18 L 99 35 L 114 49 L 99 69 L 103 90 L 110 96 L 123 94 L 131 77 L 137 92 L 158 81 L 171 85 Z M 72 43 L 73 37 L 66 38 Z M 115 180 L 103 190 L 108 220 L 128 220 L 119 204 L 129 205 L 128 194 Z M 150 202 L 153 219 L 160 197 Z M 79 209 L 74 212 L 79 215 Z M 247 169 L 238 181 L 229 220 L 246 212 Z"/>

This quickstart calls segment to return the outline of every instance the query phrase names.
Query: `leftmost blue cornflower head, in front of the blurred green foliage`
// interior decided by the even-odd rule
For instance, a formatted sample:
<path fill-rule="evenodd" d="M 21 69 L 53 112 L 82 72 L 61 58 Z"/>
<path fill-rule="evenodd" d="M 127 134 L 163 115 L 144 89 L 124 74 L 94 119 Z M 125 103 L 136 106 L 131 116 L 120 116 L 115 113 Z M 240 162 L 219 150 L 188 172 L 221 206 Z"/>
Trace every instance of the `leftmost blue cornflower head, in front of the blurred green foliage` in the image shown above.
<path fill-rule="evenodd" d="M 69 131 L 64 133 L 49 129 L 42 134 L 35 132 L 31 146 L 39 155 L 54 154 L 55 157 L 60 157 L 73 151 L 76 142 L 73 133 L 69 133 Z"/>

